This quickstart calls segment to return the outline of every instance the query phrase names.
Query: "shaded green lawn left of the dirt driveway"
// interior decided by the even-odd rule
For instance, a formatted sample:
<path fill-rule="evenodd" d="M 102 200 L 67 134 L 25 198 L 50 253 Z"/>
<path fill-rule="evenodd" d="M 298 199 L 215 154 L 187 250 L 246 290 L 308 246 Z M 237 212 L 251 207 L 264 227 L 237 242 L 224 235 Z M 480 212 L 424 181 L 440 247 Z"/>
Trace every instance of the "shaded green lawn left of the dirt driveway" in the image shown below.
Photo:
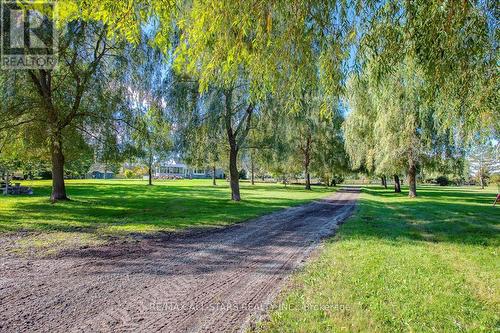
<path fill-rule="evenodd" d="M 22 246 L 54 248 L 93 244 L 102 236 L 221 226 L 328 195 L 322 187 L 242 183 L 243 201 L 230 200 L 227 182 L 135 180 L 67 181 L 70 202 L 49 202 L 50 181 L 26 182 L 34 196 L 0 200 L 0 234 L 28 233 Z"/>

